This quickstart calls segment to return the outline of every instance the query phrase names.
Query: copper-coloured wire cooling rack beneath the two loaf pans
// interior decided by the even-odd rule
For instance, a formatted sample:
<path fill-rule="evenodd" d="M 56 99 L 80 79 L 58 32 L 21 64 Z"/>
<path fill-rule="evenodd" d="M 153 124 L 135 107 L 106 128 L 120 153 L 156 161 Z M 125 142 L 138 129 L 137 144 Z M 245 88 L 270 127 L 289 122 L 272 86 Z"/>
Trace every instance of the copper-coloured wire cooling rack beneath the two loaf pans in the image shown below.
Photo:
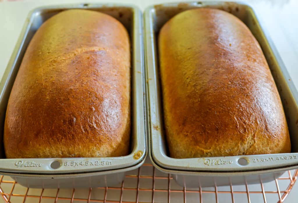
<path fill-rule="evenodd" d="M 229 185 L 210 188 L 183 188 L 170 174 L 158 171 L 149 160 L 139 169 L 127 172 L 122 184 L 90 189 L 25 188 L 10 177 L 0 176 L 0 193 L 4 202 L 207 202 L 251 203 L 283 202 L 293 188 L 298 170 L 287 171 L 269 183 Z"/>

